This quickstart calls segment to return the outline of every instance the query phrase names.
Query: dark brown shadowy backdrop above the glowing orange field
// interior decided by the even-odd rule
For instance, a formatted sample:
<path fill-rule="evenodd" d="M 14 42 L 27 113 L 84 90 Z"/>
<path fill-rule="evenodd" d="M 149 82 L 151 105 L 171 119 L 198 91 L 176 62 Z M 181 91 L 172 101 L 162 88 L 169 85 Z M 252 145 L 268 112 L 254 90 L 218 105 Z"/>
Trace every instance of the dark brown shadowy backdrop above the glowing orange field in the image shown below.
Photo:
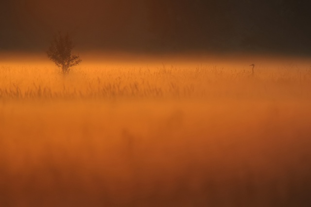
<path fill-rule="evenodd" d="M 0 50 L 311 54 L 308 0 L 1 0 Z"/>

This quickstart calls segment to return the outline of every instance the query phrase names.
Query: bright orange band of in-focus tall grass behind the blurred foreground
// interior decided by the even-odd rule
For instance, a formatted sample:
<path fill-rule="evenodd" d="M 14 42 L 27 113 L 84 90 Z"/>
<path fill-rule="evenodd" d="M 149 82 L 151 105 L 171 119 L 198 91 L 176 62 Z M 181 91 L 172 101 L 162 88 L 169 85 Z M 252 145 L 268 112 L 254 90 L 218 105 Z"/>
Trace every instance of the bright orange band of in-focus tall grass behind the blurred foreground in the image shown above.
<path fill-rule="evenodd" d="M 0 99 L 269 98 L 309 96 L 310 68 L 214 65 L 86 65 L 60 76 L 51 66 L 2 66 Z"/>

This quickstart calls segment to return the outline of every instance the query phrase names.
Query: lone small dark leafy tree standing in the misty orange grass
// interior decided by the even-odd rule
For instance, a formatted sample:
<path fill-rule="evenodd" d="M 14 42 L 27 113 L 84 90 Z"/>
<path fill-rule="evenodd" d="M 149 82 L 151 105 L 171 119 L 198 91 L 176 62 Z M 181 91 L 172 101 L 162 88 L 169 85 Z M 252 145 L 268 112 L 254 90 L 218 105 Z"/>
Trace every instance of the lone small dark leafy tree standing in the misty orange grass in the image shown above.
<path fill-rule="evenodd" d="M 47 51 L 48 58 L 52 60 L 57 67 L 61 68 L 63 75 L 66 75 L 70 71 L 70 67 L 81 63 L 79 56 L 71 55 L 73 49 L 72 40 L 67 33 L 65 36 L 58 32 L 54 35 L 50 48 Z"/>

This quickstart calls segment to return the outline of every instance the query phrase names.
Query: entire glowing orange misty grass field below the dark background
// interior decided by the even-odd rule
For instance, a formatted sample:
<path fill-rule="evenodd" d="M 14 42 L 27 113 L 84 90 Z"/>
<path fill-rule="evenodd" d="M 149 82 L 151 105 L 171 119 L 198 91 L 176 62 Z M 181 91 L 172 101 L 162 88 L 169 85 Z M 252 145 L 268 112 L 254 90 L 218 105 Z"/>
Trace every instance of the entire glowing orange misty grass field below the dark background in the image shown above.
<path fill-rule="evenodd" d="M 1 207 L 311 206 L 311 61 L 90 57 L 0 59 Z"/>

